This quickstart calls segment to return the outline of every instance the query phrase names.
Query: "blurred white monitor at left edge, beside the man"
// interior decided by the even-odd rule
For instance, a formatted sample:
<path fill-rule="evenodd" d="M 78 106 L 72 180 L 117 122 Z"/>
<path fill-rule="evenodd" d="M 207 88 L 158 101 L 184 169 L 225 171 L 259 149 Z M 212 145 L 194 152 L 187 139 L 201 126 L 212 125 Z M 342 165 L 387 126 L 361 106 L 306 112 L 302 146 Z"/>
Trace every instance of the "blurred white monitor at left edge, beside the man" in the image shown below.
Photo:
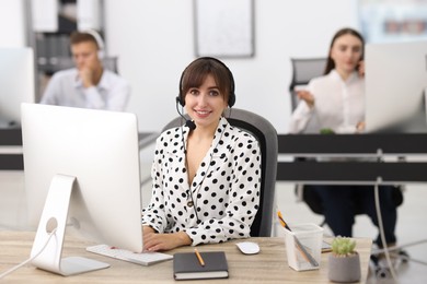
<path fill-rule="evenodd" d="M 32 48 L 0 48 L 0 123 L 19 125 L 21 103 L 35 102 Z"/>

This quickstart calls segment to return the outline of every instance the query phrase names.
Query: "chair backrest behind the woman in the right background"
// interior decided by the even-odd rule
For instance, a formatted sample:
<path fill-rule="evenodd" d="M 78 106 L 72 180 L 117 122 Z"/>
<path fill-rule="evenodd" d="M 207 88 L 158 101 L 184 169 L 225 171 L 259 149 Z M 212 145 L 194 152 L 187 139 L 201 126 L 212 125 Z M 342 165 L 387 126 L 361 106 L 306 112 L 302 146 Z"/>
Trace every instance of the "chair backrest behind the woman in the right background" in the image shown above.
<path fill-rule="evenodd" d="M 295 93 L 295 87 L 298 85 L 307 85 L 311 79 L 321 76 L 326 67 L 326 58 L 291 58 L 292 63 L 292 80 L 289 84 L 291 95 L 291 107 L 296 109 L 298 98 Z"/>

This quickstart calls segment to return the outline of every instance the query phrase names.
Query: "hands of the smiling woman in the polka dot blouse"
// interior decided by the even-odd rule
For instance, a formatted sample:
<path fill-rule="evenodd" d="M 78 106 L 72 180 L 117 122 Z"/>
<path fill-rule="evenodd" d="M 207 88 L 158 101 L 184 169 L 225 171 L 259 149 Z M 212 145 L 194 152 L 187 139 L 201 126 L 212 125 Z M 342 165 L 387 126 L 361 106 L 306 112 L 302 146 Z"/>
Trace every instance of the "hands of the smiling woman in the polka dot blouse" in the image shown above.
<path fill-rule="evenodd" d="M 192 239 L 184 232 L 158 234 L 149 226 L 142 226 L 143 249 L 148 251 L 171 250 L 192 245 Z"/>

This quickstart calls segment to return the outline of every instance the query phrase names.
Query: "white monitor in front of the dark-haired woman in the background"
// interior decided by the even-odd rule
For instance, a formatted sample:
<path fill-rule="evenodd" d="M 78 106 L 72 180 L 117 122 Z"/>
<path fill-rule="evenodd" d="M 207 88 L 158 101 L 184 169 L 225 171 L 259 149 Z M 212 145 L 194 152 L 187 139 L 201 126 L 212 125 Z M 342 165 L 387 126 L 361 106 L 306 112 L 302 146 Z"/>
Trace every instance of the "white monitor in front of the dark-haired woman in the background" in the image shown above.
<path fill-rule="evenodd" d="M 425 127 L 427 40 L 368 44 L 365 62 L 367 131 Z"/>

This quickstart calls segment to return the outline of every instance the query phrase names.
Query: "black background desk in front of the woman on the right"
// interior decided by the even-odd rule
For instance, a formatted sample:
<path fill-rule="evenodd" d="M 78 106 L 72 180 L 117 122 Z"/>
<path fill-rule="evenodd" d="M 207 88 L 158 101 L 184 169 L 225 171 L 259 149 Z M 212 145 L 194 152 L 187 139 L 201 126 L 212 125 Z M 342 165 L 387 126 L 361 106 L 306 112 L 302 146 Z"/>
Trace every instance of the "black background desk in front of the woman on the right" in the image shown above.
<path fill-rule="evenodd" d="M 426 162 L 386 157 L 427 156 L 427 133 L 285 134 L 278 137 L 277 180 L 304 184 L 383 184 L 427 181 Z M 315 162 L 314 157 L 370 161 Z M 299 159 L 303 157 L 303 159 Z"/>

